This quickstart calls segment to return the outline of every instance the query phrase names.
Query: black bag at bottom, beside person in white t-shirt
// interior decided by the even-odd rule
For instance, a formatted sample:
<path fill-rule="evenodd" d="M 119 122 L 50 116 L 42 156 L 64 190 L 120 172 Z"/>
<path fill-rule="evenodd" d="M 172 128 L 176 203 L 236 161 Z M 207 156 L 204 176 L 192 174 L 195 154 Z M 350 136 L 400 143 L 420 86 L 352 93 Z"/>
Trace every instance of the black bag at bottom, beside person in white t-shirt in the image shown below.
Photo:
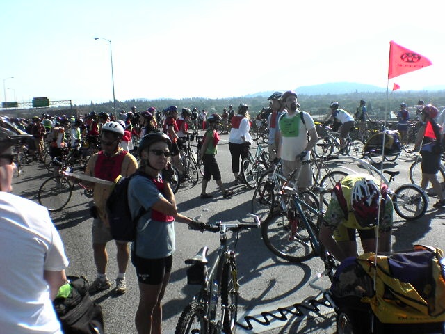
<path fill-rule="evenodd" d="M 90 285 L 84 277 L 68 276 L 71 292 L 53 301 L 54 310 L 65 334 L 103 334 L 102 307 L 91 300 Z"/>

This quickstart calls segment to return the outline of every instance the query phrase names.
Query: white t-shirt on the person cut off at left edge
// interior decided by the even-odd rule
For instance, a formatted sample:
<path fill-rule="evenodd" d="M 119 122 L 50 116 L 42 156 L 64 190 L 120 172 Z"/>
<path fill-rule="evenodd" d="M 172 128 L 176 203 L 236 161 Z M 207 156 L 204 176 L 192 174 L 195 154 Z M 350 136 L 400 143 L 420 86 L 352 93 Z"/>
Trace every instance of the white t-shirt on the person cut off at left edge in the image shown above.
<path fill-rule="evenodd" d="M 43 271 L 68 265 L 47 209 L 0 191 L 0 333 L 62 333 Z"/>

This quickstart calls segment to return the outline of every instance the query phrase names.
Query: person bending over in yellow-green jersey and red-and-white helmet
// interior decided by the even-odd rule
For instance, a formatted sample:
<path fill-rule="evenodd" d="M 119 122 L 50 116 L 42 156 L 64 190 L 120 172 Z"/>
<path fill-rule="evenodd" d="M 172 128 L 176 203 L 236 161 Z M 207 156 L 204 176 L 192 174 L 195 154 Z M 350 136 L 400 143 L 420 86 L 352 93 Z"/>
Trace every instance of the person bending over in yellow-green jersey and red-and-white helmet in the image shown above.
<path fill-rule="evenodd" d="M 355 230 L 362 240 L 364 253 L 375 253 L 376 233 L 378 253 L 391 251 L 393 205 L 387 195 L 387 185 L 379 184 L 371 175 L 353 174 L 343 177 L 334 187 L 319 239 L 337 260 L 357 256 Z"/>

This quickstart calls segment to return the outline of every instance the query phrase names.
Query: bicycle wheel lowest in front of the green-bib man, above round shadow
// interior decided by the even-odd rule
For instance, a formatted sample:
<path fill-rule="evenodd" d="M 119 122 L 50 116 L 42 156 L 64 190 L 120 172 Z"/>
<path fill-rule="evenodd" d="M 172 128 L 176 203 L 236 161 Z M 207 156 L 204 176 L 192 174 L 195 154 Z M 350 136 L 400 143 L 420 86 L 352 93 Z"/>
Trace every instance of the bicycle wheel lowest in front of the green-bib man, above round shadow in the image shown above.
<path fill-rule="evenodd" d="M 273 212 L 261 224 L 261 235 L 267 248 L 284 260 L 302 262 L 314 257 L 311 239 L 305 227 L 298 225 L 297 232 L 292 235 L 289 219 L 281 212 Z"/>

